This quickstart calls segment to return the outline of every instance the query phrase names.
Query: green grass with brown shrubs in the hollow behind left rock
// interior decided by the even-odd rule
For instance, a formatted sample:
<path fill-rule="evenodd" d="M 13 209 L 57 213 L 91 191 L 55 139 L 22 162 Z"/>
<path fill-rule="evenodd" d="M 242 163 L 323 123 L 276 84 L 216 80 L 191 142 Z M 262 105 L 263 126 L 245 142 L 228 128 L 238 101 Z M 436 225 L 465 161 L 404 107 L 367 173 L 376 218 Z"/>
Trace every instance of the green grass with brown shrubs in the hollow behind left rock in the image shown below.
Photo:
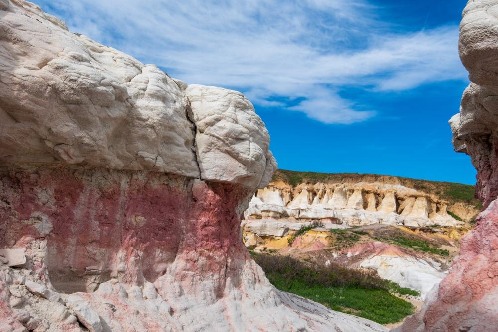
<path fill-rule="evenodd" d="M 399 322 L 415 311 L 411 303 L 393 294 L 407 292 L 406 289 L 373 271 L 349 269 L 339 264 L 316 266 L 288 256 L 259 254 L 254 260 L 276 288 L 336 311 L 380 324 Z"/>

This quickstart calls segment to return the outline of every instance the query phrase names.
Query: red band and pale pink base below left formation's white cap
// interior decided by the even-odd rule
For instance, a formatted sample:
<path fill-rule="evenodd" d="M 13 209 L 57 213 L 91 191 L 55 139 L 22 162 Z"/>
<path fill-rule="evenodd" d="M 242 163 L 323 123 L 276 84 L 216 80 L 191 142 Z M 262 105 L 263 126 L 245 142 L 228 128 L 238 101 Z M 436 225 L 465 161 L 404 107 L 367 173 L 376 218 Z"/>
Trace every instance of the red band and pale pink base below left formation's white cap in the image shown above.
<path fill-rule="evenodd" d="M 251 196 L 164 173 L 2 168 L 0 243 L 27 262 L 0 270 L 0 331 L 385 331 L 271 286 L 241 241 Z"/>

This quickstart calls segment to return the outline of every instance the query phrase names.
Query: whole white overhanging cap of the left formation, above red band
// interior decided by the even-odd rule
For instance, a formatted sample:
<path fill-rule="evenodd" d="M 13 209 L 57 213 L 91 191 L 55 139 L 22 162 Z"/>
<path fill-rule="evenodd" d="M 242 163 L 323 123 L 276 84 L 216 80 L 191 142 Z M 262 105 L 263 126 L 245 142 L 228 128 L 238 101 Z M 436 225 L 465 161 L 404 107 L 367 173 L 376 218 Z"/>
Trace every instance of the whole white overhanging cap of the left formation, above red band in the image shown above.
<path fill-rule="evenodd" d="M 8 4 L 2 25 L 4 162 L 154 170 L 248 187 L 270 180 L 268 132 L 239 92 L 191 85 L 184 93 L 186 84 L 156 66 L 73 34 L 27 2 Z"/>

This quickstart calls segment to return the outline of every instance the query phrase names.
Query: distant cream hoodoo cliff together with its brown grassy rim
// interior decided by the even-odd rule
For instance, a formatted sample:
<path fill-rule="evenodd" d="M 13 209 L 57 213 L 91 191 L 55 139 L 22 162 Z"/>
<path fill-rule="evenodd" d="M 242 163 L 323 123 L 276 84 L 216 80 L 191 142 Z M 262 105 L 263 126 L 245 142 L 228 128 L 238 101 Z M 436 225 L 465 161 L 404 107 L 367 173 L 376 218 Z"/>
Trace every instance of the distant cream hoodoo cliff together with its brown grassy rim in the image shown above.
<path fill-rule="evenodd" d="M 306 174 L 320 179 L 307 178 Z M 302 182 L 292 184 L 292 177 L 301 178 Z M 279 170 L 267 187 L 254 194 L 244 216 L 249 222 L 319 220 L 343 227 L 370 224 L 461 227 L 477 216 L 480 204 L 474 199 L 451 196 L 452 190 L 459 187 L 470 190 L 472 198 L 472 186 L 456 183 Z"/>

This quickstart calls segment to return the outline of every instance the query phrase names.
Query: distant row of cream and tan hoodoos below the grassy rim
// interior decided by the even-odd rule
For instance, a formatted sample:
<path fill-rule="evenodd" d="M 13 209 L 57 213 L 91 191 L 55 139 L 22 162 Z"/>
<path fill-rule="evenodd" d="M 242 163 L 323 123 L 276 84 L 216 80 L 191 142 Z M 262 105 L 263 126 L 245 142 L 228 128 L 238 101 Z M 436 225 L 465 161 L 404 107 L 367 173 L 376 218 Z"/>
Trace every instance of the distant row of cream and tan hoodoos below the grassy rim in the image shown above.
<path fill-rule="evenodd" d="M 462 225 L 447 213 L 447 205 L 447 201 L 434 195 L 397 184 L 302 183 L 293 188 L 276 181 L 255 193 L 244 216 L 246 225 L 271 220 L 286 223 L 320 220 L 345 227 Z"/>

